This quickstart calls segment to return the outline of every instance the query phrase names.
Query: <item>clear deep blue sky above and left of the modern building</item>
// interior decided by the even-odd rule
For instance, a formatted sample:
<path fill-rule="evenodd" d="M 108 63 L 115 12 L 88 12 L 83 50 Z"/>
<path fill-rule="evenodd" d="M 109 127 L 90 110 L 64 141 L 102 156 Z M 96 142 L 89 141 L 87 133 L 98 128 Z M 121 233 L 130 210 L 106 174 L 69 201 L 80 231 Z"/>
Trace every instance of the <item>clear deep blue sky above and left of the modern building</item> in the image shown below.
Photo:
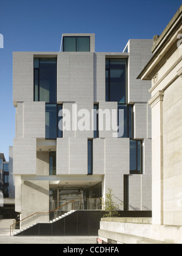
<path fill-rule="evenodd" d="M 122 52 L 127 41 L 160 35 L 181 0 L 5 0 L 0 5 L 0 152 L 15 137 L 12 52 L 59 51 L 62 33 L 95 33 L 95 51 Z"/>

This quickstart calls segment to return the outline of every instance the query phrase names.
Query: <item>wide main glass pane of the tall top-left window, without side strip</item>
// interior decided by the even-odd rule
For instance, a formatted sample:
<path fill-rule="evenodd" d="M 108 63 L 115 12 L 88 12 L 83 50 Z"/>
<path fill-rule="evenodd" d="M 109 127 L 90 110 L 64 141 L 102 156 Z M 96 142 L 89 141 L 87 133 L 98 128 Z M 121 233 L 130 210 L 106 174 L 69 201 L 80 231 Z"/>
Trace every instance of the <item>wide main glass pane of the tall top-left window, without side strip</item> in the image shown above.
<path fill-rule="evenodd" d="M 57 60 L 39 59 L 39 101 L 56 102 Z"/>

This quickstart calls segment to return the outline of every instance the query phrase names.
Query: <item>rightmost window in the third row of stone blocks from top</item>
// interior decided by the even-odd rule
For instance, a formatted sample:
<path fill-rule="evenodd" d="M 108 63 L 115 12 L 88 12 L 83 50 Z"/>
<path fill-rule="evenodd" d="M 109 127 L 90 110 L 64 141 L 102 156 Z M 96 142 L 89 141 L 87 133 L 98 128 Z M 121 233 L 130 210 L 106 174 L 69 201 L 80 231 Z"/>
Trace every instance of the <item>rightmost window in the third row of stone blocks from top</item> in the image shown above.
<path fill-rule="evenodd" d="M 130 140 L 130 174 L 142 174 L 142 141 Z"/>

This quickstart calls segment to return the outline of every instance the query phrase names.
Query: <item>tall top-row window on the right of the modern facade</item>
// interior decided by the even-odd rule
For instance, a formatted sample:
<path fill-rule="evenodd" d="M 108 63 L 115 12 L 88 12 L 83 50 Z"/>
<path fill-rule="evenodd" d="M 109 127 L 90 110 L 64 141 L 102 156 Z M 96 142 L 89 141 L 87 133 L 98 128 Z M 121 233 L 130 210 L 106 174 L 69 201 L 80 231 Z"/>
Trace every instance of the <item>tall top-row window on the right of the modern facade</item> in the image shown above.
<path fill-rule="evenodd" d="M 127 59 L 106 59 L 106 101 L 126 103 Z"/>

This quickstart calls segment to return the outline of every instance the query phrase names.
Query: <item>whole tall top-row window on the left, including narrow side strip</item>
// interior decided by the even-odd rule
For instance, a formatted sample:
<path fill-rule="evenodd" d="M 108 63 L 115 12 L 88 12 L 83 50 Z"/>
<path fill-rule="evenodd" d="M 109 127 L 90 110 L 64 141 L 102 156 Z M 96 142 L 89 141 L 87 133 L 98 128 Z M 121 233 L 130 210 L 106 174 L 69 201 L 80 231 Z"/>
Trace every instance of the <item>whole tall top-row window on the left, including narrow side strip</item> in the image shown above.
<path fill-rule="evenodd" d="M 57 102 L 56 58 L 34 58 L 34 101 Z"/>

